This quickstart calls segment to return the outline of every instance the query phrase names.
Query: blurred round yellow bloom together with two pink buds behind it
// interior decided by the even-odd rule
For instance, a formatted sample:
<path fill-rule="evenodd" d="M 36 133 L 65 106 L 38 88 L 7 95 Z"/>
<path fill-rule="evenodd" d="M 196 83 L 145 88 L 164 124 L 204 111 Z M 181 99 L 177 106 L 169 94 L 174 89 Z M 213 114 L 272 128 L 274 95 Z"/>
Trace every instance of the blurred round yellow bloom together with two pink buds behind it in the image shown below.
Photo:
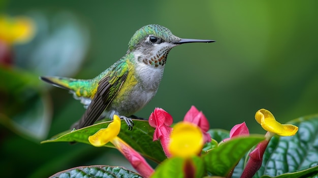
<path fill-rule="evenodd" d="M 172 123 L 172 116 L 161 108 L 154 109 L 149 117 L 150 126 L 155 128 L 153 141 L 161 141 L 167 157 L 198 155 L 203 144 L 211 141 L 209 122 L 195 106 L 185 114 L 183 122 L 174 128 L 170 127 Z"/>

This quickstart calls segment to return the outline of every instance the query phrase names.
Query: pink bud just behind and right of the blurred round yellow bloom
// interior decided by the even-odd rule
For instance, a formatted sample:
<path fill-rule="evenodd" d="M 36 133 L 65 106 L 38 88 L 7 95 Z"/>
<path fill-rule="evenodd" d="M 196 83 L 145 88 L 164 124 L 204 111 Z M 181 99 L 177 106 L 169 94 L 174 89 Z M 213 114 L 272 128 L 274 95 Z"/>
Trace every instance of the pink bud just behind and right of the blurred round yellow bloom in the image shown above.
<path fill-rule="evenodd" d="M 206 133 L 210 128 L 209 121 L 195 106 L 191 106 L 190 110 L 185 114 L 183 121 L 194 123 L 200 127 L 204 136 L 204 143 L 211 141 L 210 134 Z"/>

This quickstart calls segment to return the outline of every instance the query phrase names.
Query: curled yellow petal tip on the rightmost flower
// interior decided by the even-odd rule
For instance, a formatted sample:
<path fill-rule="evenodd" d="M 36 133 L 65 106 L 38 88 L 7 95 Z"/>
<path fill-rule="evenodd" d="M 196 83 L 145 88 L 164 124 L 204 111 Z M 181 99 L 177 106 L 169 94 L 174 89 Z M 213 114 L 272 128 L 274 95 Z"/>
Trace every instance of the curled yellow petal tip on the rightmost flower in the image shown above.
<path fill-rule="evenodd" d="M 255 114 L 256 121 L 269 132 L 280 136 L 292 136 L 298 131 L 298 127 L 291 124 L 280 124 L 277 122 L 271 112 L 261 109 Z"/>

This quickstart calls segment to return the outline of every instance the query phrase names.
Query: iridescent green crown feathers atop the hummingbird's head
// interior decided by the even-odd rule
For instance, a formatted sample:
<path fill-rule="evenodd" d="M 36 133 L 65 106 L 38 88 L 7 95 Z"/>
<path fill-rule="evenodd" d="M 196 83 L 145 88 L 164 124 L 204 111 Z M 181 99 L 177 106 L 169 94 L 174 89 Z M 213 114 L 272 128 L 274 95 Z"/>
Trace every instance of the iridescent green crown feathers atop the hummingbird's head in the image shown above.
<path fill-rule="evenodd" d="M 148 35 L 151 34 L 156 37 L 160 37 L 161 39 L 168 42 L 172 41 L 173 38 L 178 38 L 175 35 L 173 35 L 168 28 L 164 26 L 156 24 L 146 25 L 135 32 L 128 44 L 128 50 L 133 51 L 138 46 L 141 40 L 144 40 L 145 37 L 148 37 Z"/>

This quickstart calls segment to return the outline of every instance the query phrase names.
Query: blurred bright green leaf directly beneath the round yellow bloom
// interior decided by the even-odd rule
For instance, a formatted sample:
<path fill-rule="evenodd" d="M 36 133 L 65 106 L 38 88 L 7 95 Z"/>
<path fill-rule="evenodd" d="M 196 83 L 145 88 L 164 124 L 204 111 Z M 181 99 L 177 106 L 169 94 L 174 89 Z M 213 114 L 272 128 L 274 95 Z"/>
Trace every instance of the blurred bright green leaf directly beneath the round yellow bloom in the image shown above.
<path fill-rule="evenodd" d="M 194 169 L 191 169 L 189 167 L 184 168 L 186 162 L 188 163 L 187 165 L 190 165 L 190 167 L 193 167 Z M 188 158 L 188 159 L 180 158 L 180 157 L 172 157 L 172 158 L 166 159 L 155 169 L 155 172 L 154 174 L 152 174 L 151 178 L 186 177 L 185 171 L 189 171 L 189 170 L 195 170 L 194 177 L 202 177 L 204 175 L 203 160 L 197 156 Z"/>

